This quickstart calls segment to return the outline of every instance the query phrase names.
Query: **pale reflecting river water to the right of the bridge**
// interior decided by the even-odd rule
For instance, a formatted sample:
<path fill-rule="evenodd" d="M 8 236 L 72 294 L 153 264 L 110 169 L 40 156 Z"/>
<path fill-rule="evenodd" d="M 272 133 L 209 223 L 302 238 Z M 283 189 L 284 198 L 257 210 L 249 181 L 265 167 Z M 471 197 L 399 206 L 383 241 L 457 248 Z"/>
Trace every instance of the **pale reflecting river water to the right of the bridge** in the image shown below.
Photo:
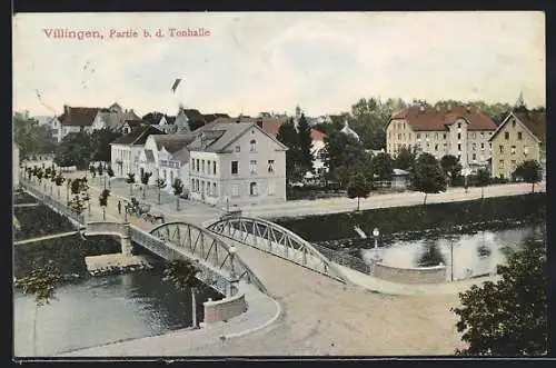
<path fill-rule="evenodd" d="M 495 273 L 496 266 L 505 263 L 508 251 L 520 249 L 528 237 L 538 235 L 539 231 L 539 227 L 528 226 L 431 236 L 417 240 L 394 240 L 378 245 L 378 255 L 383 263 L 399 268 L 436 266 L 443 262 L 447 266 L 447 280 L 451 279 L 451 269 L 454 280 L 467 279 Z M 367 246 L 370 249 L 361 249 L 361 257 L 370 262 L 375 257 L 374 240 L 369 239 Z"/>

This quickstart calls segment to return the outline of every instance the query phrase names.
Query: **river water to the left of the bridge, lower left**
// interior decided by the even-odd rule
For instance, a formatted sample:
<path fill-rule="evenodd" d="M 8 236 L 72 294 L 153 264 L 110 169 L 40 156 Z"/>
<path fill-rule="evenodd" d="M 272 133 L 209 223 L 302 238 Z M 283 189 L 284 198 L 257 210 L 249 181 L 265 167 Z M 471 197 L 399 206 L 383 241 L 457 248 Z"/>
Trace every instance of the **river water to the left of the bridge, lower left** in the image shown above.
<path fill-rule="evenodd" d="M 33 298 L 14 291 L 14 356 L 52 356 L 191 326 L 190 292 L 161 278 L 160 268 L 85 278 L 57 289 L 58 300 L 38 308 L 37 316 Z M 197 296 L 198 321 L 208 298 L 219 295 L 207 288 Z"/>

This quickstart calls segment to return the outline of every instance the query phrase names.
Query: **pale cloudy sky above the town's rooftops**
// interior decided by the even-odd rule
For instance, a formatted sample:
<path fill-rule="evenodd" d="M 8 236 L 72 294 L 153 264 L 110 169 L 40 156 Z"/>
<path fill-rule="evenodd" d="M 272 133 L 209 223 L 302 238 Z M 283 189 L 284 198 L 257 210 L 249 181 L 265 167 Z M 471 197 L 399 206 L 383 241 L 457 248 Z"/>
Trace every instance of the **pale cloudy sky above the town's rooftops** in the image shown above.
<path fill-rule="evenodd" d="M 205 38 L 108 39 L 110 29 Z M 103 40 L 43 29 L 99 30 Z M 168 36 L 168 34 L 167 34 Z M 87 68 L 85 66 L 87 64 Z M 95 70 L 92 73 L 91 70 Z M 170 87 L 182 78 L 180 90 Z M 361 97 L 545 103 L 543 12 L 60 13 L 13 18 L 13 106 L 175 113 L 349 110 Z"/>

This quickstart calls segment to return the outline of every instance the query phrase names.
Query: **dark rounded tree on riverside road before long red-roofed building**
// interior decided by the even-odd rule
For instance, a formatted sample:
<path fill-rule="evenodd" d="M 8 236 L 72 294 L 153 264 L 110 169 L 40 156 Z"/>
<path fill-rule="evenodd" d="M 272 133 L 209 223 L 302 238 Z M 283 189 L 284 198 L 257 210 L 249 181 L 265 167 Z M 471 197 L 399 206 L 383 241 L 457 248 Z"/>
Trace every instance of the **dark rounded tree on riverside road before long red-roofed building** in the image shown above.
<path fill-rule="evenodd" d="M 425 193 L 423 205 L 427 203 L 428 193 L 438 193 L 446 190 L 446 178 L 440 165 L 430 153 L 421 153 L 410 175 L 411 187 Z"/>

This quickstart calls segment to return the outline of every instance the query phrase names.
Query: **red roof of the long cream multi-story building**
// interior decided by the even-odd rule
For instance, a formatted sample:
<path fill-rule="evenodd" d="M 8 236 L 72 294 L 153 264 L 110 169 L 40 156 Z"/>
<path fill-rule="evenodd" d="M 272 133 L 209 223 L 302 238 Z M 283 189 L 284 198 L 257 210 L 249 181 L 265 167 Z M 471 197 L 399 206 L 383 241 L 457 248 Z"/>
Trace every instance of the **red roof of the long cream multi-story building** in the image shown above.
<path fill-rule="evenodd" d="M 471 107 L 468 111 L 464 106 L 455 106 L 449 110 L 447 107 L 440 107 L 438 110 L 434 107 L 426 107 L 425 111 L 420 111 L 418 106 L 413 106 L 393 113 L 390 121 L 405 119 L 417 131 L 445 130 L 447 126 L 460 118 L 469 123 L 468 130 L 496 130 L 497 128 L 496 122 L 480 109 Z"/>

